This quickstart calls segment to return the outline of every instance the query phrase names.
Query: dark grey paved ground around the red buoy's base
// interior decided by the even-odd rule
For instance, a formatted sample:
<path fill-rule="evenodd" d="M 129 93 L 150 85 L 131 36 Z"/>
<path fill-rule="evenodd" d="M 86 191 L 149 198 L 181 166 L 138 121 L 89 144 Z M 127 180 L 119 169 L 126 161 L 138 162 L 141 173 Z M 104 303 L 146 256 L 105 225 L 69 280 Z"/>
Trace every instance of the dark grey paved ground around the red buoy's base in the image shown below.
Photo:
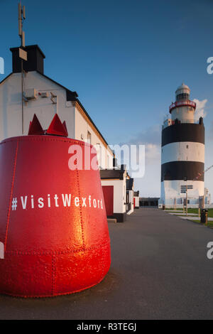
<path fill-rule="evenodd" d="M 56 298 L 0 296 L 0 318 L 213 318 L 213 230 L 143 208 L 124 223 L 109 223 L 109 232 L 112 263 L 102 283 Z"/>

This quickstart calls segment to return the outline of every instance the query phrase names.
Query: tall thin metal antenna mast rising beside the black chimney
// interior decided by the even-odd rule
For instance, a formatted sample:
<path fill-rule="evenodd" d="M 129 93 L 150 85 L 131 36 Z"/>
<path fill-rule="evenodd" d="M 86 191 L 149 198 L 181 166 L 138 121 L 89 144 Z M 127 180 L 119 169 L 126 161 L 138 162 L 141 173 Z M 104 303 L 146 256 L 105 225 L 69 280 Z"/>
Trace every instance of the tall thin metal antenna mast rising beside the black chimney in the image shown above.
<path fill-rule="evenodd" d="M 23 134 L 23 59 L 27 60 L 27 55 L 22 48 L 25 48 L 25 33 L 23 31 L 23 20 L 26 19 L 25 6 L 21 6 L 21 1 L 18 3 L 18 35 L 21 38 L 21 48 L 19 48 L 19 57 L 21 58 L 21 121 Z"/>

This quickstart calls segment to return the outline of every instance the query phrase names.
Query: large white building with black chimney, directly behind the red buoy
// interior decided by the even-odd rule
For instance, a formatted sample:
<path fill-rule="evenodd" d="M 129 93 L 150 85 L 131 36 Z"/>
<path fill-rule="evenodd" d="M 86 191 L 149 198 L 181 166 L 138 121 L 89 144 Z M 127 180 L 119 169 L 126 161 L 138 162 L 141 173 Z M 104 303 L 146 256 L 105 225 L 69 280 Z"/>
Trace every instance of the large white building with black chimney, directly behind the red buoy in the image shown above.
<path fill-rule="evenodd" d="M 0 82 L 0 140 L 28 134 L 29 124 L 36 114 L 43 129 L 48 129 L 54 114 L 66 122 L 68 136 L 89 141 L 100 147 L 101 168 L 112 168 L 114 154 L 97 126 L 87 114 L 77 92 L 44 75 L 45 55 L 38 45 L 26 46 L 28 60 L 23 60 L 23 120 L 21 107 L 21 58 L 18 48 L 11 48 L 13 72 Z M 23 124 L 23 125 L 22 125 Z M 101 155 L 100 155 L 101 156 Z"/>

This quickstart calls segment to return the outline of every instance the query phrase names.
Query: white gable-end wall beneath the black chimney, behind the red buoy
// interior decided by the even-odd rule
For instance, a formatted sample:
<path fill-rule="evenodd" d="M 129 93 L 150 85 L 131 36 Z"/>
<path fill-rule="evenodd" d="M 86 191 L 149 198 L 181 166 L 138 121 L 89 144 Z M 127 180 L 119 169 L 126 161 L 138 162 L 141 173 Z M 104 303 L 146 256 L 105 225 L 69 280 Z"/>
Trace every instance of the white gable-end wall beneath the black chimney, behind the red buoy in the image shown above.
<path fill-rule="evenodd" d="M 24 78 L 24 91 L 31 88 L 37 92 L 53 92 L 57 95 L 57 104 L 53 104 L 50 97 L 39 95 L 27 102 L 23 109 L 24 134 L 28 134 L 33 114 L 36 114 L 43 129 L 48 129 L 58 111 L 61 121 L 66 121 L 69 137 L 74 138 L 74 107 L 71 103 L 67 104 L 66 90 L 38 72 L 28 72 Z M 0 85 L 0 140 L 21 136 L 21 130 L 21 73 L 13 73 Z"/>

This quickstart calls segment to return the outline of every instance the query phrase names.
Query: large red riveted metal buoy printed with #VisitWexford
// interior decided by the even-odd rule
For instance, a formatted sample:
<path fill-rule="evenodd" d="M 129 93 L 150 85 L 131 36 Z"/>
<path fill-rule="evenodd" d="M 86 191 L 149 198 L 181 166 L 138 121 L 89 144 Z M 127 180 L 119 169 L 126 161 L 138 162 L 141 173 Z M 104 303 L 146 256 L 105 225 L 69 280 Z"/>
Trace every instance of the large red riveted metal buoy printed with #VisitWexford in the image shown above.
<path fill-rule="evenodd" d="M 82 169 L 70 169 L 72 145 L 82 149 Z M 74 293 L 107 274 L 107 215 L 99 170 L 84 168 L 88 148 L 82 141 L 52 135 L 1 141 L 0 293 Z M 97 161 L 96 153 L 91 161 Z"/>

